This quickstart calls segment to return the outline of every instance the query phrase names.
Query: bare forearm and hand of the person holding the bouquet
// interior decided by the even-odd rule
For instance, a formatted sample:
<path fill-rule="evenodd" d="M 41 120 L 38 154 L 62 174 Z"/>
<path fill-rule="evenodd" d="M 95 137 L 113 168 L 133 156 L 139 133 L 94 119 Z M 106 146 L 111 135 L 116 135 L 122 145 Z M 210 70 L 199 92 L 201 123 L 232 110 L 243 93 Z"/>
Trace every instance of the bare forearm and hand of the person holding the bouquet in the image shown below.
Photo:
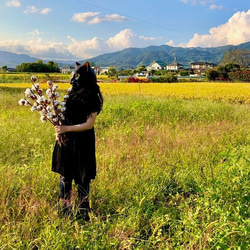
<path fill-rule="evenodd" d="M 91 113 L 86 122 L 77 125 L 62 125 L 55 126 L 56 136 L 66 133 L 66 132 L 81 132 L 85 130 L 92 129 L 95 124 L 95 118 L 97 113 Z"/>

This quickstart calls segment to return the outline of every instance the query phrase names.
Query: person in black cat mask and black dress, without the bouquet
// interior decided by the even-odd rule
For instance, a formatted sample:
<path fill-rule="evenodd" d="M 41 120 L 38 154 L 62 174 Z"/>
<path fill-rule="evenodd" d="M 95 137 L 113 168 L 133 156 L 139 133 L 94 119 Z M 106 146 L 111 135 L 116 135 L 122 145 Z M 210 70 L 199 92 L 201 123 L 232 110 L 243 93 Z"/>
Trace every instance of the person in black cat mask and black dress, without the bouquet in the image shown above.
<path fill-rule="evenodd" d="M 77 215 L 89 220 L 89 185 L 96 176 L 94 123 L 103 104 L 96 75 L 88 62 L 75 63 L 70 80 L 72 90 L 66 103 L 65 122 L 56 126 L 57 141 L 52 156 L 52 171 L 60 174 L 60 198 L 65 214 L 71 214 L 72 181 L 77 185 Z M 58 136 L 65 134 L 66 144 Z"/>

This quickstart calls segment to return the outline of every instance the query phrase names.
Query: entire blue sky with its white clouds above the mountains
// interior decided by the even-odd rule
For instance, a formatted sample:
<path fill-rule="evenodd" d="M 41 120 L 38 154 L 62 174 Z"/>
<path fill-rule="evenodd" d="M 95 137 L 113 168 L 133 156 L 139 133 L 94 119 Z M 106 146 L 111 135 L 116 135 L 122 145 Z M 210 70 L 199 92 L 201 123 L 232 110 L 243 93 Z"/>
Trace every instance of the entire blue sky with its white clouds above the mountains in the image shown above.
<path fill-rule="evenodd" d="M 51 60 L 250 41 L 249 0 L 0 0 L 0 18 L 0 50 Z"/>

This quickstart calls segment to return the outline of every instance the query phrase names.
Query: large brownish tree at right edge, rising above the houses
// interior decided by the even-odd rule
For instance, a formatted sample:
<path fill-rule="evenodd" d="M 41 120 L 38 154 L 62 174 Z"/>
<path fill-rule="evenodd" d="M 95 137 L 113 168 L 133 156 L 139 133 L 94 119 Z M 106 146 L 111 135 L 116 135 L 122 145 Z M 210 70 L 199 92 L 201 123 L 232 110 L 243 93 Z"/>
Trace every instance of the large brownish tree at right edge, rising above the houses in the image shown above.
<path fill-rule="evenodd" d="M 225 53 L 221 65 L 238 64 L 240 69 L 245 69 L 250 63 L 250 51 L 248 49 L 233 49 Z"/>

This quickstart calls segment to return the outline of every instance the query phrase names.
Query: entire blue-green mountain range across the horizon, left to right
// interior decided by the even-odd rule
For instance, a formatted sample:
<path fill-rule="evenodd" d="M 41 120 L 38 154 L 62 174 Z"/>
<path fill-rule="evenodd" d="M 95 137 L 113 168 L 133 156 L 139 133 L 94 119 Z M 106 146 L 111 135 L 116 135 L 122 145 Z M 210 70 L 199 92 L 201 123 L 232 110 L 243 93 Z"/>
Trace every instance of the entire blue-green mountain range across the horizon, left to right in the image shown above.
<path fill-rule="evenodd" d="M 118 69 L 136 68 L 139 65 L 148 66 L 153 61 L 161 61 L 166 64 L 174 61 L 174 54 L 177 62 L 184 67 L 189 67 L 191 62 L 209 62 L 219 64 L 224 54 L 232 49 L 247 49 L 250 51 L 250 42 L 240 45 L 227 45 L 212 48 L 182 48 L 168 45 L 149 46 L 146 48 L 127 48 L 121 51 L 106 53 L 97 57 L 80 61 L 94 62 L 97 66 L 108 67 L 116 66 Z M 38 58 L 30 57 L 24 54 L 15 54 L 6 51 L 0 51 L 0 67 L 16 67 L 25 62 L 35 62 Z M 74 64 L 74 61 L 56 61 L 59 67 Z M 46 62 L 46 60 L 43 60 Z"/>

